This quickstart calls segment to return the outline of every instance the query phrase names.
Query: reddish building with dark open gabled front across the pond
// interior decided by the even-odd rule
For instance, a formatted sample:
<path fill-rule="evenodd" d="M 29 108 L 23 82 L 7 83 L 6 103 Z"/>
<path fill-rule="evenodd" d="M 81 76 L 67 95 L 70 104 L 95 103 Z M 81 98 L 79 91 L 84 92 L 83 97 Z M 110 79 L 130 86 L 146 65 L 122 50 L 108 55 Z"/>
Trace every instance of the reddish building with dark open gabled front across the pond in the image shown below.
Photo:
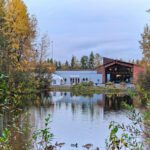
<path fill-rule="evenodd" d="M 96 70 L 102 74 L 103 83 L 135 83 L 138 75 L 144 72 L 144 68 L 139 65 L 109 58 L 103 58 L 103 65 Z"/>

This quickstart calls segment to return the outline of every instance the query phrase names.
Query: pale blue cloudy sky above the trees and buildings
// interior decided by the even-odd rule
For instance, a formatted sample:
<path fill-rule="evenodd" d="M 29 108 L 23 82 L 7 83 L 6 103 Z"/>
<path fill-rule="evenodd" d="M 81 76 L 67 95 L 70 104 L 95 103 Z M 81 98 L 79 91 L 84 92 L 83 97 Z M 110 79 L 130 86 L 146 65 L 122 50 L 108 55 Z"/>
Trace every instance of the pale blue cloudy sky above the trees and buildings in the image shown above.
<path fill-rule="evenodd" d="M 38 20 L 39 36 L 53 41 L 54 59 L 103 57 L 141 59 L 139 41 L 150 21 L 150 0 L 24 0 Z M 52 57 L 52 47 L 48 50 Z"/>

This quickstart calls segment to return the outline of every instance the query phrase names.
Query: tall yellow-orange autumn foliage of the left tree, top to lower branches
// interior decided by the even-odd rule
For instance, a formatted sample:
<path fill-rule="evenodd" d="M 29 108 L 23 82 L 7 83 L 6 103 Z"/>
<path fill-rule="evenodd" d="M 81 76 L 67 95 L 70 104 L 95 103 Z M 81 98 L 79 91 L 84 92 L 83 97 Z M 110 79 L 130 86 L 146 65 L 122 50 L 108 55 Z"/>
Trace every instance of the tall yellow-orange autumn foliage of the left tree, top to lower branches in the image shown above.
<path fill-rule="evenodd" d="M 34 55 L 32 42 L 36 31 L 35 18 L 32 20 L 29 17 L 22 0 L 6 0 L 4 13 L 2 32 L 7 40 L 7 59 L 15 69 L 27 70 Z"/>

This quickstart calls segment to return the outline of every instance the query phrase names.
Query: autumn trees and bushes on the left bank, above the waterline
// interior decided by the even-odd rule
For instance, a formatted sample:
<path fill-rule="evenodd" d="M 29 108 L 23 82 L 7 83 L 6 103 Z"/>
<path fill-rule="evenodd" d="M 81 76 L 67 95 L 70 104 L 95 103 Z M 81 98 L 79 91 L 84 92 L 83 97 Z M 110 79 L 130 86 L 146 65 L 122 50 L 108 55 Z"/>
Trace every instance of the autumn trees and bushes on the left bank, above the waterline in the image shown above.
<path fill-rule="evenodd" d="M 0 1 L 0 35 L 0 72 L 8 77 L 9 89 L 32 92 L 50 83 L 43 75 L 49 78 L 54 70 L 44 58 L 48 39 L 43 36 L 35 42 L 37 20 L 22 0 Z"/>

